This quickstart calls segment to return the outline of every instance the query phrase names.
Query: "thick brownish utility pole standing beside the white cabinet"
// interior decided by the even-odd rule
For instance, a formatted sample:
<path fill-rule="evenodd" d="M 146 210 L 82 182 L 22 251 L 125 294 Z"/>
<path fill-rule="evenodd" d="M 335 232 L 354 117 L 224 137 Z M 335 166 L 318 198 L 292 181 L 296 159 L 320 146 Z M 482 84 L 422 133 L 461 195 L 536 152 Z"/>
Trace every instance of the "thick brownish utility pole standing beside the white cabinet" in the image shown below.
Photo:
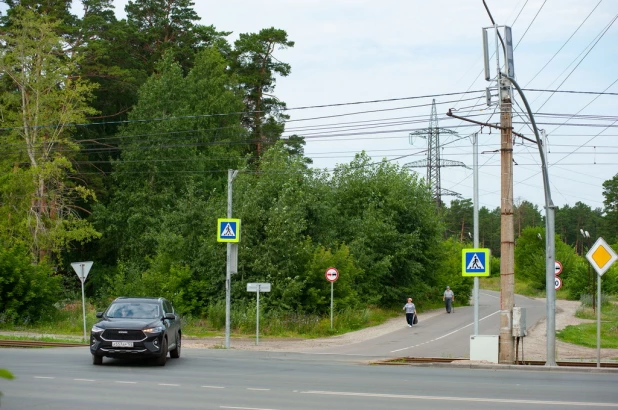
<path fill-rule="evenodd" d="M 512 313 L 515 306 L 515 236 L 513 233 L 513 116 L 511 84 L 505 78 L 500 87 L 500 363 L 514 363 Z"/>

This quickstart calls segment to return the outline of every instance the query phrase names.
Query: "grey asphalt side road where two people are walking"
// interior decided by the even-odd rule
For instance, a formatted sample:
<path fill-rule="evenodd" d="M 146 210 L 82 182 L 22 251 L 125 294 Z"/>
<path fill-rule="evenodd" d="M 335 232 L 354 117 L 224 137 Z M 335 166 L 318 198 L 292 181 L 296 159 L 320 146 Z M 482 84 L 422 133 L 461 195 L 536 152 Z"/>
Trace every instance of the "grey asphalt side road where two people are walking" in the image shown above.
<path fill-rule="evenodd" d="M 515 305 L 526 308 L 526 324 L 530 328 L 545 317 L 545 302 L 515 296 Z M 307 353 L 356 355 L 368 357 L 454 357 L 470 355 L 470 336 L 474 334 L 474 308 L 456 307 L 419 319 L 409 328 L 401 318 L 401 330 L 371 340 L 341 347 L 316 348 Z M 500 293 L 481 290 L 479 294 L 479 334 L 498 335 L 500 330 Z M 524 342 L 525 343 L 525 342 Z M 525 351 L 524 351 L 525 353 Z M 520 353 L 521 354 L 521 353 Z"/>

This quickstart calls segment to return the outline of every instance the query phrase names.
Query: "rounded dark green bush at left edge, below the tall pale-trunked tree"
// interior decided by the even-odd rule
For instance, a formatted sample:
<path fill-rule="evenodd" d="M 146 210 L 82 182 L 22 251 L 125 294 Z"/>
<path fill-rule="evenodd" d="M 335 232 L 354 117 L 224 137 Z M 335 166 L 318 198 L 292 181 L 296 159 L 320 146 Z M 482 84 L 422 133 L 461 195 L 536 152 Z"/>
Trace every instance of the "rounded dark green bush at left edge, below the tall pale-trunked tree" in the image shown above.
<path fill-rule="evenodd" d="M 24 246 L 0 247 L 0 323 L 31 323 L 54 309 L 59 278 L 44 263 L 33 265 Z"/>

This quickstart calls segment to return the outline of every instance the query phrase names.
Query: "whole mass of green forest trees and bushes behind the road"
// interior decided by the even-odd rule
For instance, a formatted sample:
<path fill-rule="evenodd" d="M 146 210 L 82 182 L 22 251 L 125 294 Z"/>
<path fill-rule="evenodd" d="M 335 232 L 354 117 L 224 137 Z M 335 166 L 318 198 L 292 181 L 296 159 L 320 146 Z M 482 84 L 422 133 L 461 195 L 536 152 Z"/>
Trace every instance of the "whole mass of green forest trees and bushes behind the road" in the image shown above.
<path fill-rule="evenodd" d="M 190 0 L 5 0 L 0 17 L 0 324 L 36 322 L 80 299 L 71 262 L 93 261 L 86 295 L 164 296 L 208 318 L 225 298 L 228 170 L 242 220 L 235 306 L 269 282 L 266 311 L 324 315 L 325 270 L 337 309 L 470 295 L 461 250 L 473 205 L 437 206 L 419 174 L 360 152 L 333 171 L 311 167 L 302 135 L 283 138 L 278 79 L 293 75 L 285 30 L 198 24 Z M 242 30 L 242 28 L 240 28 Z M 302 45 L 301 45 L 302 46 Z M 618 249 L 618 174 L 603 209 L 556 210 L 564 295 L 590 290 L 584 257 L 602 236 Z M 517 199 L 516 280 L 545 287 L 542 212 Z M 499 275 L 500 208 L 482 207 L 480 246 Z M 589 235 L 585 233 L 588 232 Z M 618 294 L 618 270 L 603 277 Z"/>

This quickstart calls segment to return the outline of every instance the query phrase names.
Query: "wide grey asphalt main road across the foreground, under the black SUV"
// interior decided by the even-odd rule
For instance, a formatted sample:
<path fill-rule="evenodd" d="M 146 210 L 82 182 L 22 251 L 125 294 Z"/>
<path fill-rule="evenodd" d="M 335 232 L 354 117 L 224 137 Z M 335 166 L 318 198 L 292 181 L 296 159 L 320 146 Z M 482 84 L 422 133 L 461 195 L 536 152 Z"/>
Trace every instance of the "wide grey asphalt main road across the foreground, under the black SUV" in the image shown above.
<path fill-rule="evenodd" d="M 351 356 L 185 349 L 165 367 L 87 348 L 0 349 L 1 408 L 618 409 L 618 374 L 376 366 Z"/>

